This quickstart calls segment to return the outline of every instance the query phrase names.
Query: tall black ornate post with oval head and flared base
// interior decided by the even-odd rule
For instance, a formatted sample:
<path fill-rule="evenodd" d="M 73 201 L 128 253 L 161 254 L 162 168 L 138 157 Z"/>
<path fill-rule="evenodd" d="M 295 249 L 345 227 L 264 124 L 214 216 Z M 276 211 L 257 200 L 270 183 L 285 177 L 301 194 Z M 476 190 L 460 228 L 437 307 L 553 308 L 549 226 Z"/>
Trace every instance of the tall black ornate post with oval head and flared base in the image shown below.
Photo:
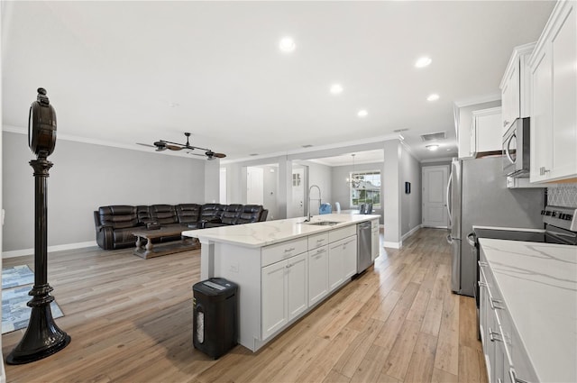
<path fill-rule="evenodd" d="M 48 284 L 47 185 L 52 162 L 48 156 L 56 145 L 56 112 L 50 105 L 46 90 L 38 88 L 37 101 L 32 103 L 28 118 L 28 144 L 36 154 L 31 160 L 34 169 L 34 286 L 28 293 L 32 299 L 30 322 L 23 339 L 6 357 L 8 364 L 23 364 L 46 358 L 69 345 L 69 334 L 54 323 L 50 303 L 52 287 Z"/>

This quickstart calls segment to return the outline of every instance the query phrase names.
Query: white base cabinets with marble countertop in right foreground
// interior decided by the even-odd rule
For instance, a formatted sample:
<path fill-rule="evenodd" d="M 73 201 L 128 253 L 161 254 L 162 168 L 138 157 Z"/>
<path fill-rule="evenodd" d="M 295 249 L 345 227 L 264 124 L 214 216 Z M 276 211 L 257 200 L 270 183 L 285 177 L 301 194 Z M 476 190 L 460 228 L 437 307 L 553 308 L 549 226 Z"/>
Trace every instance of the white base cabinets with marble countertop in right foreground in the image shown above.
<path fill-rule="evenodd" d="M 481 340 L 490 380 L 577 381 L 577 248 L 479 242 Z"/>

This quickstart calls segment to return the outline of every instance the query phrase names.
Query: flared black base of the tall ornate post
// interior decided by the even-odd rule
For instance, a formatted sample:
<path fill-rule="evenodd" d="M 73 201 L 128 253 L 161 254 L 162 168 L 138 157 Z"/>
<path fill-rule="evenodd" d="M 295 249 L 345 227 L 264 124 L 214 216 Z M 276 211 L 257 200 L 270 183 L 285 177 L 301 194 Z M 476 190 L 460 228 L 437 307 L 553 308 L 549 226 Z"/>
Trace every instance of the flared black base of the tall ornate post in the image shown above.
<path fill-rule="evenodd" d="M 24 364 L 41 360 L 69 345 L 71 339 L 69 334 L 60 330 L 52 318 L 50 302 L 54 300 L 54 297 L 43 296 L 43 299 L 39 299 L 41 302 L 35 301 L 35 298 L 38 296 L 34 296 L 28 303 L 32 307 L 32 313 L 26 333 L 6 357 L 8 364 Z"/>

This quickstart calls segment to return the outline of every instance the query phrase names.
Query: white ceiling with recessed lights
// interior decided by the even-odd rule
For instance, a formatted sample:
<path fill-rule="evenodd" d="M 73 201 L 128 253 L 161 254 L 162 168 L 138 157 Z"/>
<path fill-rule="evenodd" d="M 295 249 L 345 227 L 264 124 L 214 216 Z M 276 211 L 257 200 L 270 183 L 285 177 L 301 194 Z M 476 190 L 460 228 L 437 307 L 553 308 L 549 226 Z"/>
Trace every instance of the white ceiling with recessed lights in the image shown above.
<path fill-rule="evenodd" d="M 185 142 L 191 132 L 193 145 L 234 160 L 406 130 L 413 154 L 430 160 L 456 155 L 453 102 L 499 95 L 513 47 L 538 39 L 554 2 L 2 7 L 5 129 L 26 129 L 45 87 L 61 138 L 147 150 L 136 142 Z M 286 36 L 291 53 L 279 50 Z M 432 62 L 416 68 L 422 56 Z M 429 102 L 432 93 L 440 97 Z M 433 132 L 447 139 L 429 152 L 420 135 Z"/>

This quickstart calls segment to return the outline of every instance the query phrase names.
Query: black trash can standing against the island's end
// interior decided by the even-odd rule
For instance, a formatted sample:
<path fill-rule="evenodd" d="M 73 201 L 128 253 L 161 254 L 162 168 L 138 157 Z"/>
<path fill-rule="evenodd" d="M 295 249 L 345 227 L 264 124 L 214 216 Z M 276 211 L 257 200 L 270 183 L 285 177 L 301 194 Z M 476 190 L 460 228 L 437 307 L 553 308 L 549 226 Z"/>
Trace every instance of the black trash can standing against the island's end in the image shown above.
<path fill-rule="evenodd" d="M 209 278 L 192 287 L 195 348 L 215 359 L 237 344 L 238 285 L 224 278 Z"/>

